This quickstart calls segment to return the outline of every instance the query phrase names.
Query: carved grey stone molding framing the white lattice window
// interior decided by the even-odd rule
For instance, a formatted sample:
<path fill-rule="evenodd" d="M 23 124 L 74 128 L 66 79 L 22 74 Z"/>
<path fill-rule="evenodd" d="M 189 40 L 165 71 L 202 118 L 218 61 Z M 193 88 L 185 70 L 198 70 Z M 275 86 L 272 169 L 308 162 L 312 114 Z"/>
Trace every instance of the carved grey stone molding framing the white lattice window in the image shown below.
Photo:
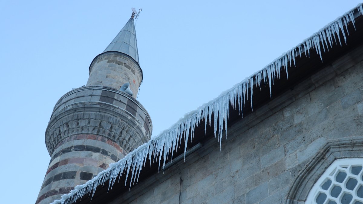
<path fill-rule="evenodd" d="M 305 202 L 310 189 L 336 159 L 363 158 L 363 136 L 339 139 L 326 144 L 314 159 L 302 168 L 287 193 L 286 204 Z"/>

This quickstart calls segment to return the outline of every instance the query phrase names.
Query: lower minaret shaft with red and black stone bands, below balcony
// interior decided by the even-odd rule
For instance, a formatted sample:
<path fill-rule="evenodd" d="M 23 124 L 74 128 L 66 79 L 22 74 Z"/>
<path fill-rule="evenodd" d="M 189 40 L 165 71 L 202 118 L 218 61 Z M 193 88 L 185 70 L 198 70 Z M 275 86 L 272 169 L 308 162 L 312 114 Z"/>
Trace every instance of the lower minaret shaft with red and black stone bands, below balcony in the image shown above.
<path fill-rule="evenodd" d="M 52 154 L 37 203 L 49 203 L 75 185 L 86 183 L 125 155 L 117 143 L 99 135 L 74 135 L 62 140 Z"/>

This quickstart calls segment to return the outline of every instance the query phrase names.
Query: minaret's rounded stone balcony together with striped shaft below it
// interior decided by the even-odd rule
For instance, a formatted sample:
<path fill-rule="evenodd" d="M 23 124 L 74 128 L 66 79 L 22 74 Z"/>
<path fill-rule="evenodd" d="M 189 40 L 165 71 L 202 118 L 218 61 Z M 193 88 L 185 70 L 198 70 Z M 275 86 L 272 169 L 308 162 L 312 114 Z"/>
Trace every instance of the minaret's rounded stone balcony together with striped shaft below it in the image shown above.
<path fill-rule="evenodd" d="M 46 129 L 51 156 L 36 203 L 51 203 L 150 139 L 138 101 L 112 87 L 85 86 L 56 103 Z"/>

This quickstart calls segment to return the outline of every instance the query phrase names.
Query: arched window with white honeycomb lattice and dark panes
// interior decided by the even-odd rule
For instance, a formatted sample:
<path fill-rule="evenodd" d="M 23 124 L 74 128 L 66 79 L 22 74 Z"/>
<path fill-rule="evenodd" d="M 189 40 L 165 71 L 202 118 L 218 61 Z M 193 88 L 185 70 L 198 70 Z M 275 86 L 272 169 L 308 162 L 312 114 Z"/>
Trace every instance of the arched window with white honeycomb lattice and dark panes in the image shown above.
<path fill-rule="evenodd" d="M 363 159 L 335 160 L 311 188 L 306 204 L 363 204 Z"/>

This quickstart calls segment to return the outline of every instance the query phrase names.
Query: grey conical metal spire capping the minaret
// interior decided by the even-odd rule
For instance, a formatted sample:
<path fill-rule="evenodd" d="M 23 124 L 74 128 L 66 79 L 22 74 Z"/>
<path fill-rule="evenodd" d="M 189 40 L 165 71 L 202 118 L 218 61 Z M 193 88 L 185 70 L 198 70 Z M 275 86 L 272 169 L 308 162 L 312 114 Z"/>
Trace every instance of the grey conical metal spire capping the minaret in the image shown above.
<path fill-rule="evenodd" d="M 139 63 L 134 18 L 131 17 L 130 20 L 127 21 L 126 25 L 123 26 L 115 39 L 103 52 L 107 51 L 116 51 L 127 54 Z"/>

